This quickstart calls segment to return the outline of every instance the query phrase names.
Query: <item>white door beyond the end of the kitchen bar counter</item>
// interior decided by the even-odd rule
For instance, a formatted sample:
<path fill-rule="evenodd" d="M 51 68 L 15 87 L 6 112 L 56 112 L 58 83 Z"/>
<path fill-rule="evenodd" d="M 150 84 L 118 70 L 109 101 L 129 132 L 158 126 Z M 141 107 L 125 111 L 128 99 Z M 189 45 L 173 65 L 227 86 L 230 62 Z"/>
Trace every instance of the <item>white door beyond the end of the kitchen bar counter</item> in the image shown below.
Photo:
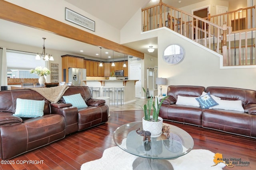
<path fill-rule="evenodd" d="M 141 98 L 141 64 L 130 64 L 130 80 L 139 80 L 135 84 L 135 98 Z"/>

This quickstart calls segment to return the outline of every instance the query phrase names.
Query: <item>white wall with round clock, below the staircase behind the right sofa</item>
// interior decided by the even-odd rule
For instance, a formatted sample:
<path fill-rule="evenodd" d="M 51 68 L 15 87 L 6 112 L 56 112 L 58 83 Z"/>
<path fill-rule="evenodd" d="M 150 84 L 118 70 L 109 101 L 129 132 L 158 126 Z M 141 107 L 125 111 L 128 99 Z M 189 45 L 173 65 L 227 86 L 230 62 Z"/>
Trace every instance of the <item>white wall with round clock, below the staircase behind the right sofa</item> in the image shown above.
<path fill-rule="evenodd" d="M 201 45 L 195 45 L 171 30 L 158 33 L 158 77 L 168 79 L 168 85 L 227 86 L 256 90 L 256 68 L 220 69 L 220 57 Z M 171 44 L 184 47 L 182 63 L 169 65 L 162 59 L 164 49 Z M 166 92 L 167 86 L 163 87 Z"/>

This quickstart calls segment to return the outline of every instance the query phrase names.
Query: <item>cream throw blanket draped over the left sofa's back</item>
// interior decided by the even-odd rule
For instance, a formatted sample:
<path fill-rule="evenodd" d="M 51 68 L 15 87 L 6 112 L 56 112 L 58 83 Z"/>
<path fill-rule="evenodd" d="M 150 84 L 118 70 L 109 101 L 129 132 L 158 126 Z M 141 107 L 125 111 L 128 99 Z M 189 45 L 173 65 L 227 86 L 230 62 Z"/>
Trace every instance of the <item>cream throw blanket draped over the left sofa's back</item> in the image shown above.
<path fill-rule="evenodd" d="M 62 95 L 68 90 L 68 85 L 63 86 L 56 86 L 56 87 L 50 87 L 50 88 L 30 88 L 31 90 L 34 90 L 44 96 L 47 100 L 49 100 L 51 103 L 57 103 Z"/>

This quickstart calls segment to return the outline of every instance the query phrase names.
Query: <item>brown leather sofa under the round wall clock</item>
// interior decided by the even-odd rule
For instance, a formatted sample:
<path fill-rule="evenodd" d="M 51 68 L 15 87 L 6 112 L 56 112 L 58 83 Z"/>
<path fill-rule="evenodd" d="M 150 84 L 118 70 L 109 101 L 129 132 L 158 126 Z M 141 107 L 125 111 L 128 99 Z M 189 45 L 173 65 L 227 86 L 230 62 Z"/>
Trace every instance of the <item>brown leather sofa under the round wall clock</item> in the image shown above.
<path fill-rule="evenodd" d="M 179 96 L 199 97 L 202 92 L 221 100 L 241 100 L 244 111 L 226 109 L 202 109 L 196 106 L 177 105 Z M 256 91 L 202 86 L 168 86 L 169 97 L 160 107 L 159 116 L 165 120 L 197 125 L 227 133 L 256 138 Z"/>

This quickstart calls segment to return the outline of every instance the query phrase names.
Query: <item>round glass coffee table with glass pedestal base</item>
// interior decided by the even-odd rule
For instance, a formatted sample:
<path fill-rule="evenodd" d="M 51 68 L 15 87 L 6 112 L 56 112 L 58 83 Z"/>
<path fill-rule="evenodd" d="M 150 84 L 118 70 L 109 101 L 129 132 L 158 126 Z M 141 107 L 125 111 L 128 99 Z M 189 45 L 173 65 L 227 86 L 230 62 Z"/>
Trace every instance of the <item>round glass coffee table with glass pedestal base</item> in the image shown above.
<path fill-rule="evenodd" d="M 122 150 L 139 156 L 133 162 L 134 170 L 173 169 L 168 159 L 175 159 L 187 154 L 194 147 L 193 138 L 183 129 L 163 123 L 170 128 L 170 133 L 162 133 L 160 137 L 151 137 L 151 142 L 143 141 L 136 130 L 143 130 L 142 121 L 124 124 L 113 134 L 114 142 Z"/>

